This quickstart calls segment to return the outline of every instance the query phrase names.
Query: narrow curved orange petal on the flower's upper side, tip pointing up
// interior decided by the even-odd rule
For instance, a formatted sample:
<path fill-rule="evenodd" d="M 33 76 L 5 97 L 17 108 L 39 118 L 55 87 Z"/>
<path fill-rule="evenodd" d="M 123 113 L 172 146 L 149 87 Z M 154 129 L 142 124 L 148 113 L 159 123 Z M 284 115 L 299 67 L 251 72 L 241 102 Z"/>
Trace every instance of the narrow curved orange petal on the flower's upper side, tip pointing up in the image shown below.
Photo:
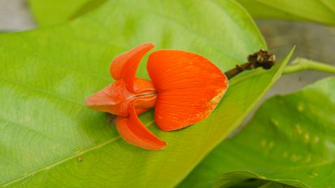
<path fill-rule="evenodd" d="M 110 64 L 110 74 L 116 80 L 124 79 L 127 88 L 135 92 L 134 80 L 137 67 L 143 56 L 153 48 L 154 45 L 152 43 L 145 43 L 117 56 Z"/>

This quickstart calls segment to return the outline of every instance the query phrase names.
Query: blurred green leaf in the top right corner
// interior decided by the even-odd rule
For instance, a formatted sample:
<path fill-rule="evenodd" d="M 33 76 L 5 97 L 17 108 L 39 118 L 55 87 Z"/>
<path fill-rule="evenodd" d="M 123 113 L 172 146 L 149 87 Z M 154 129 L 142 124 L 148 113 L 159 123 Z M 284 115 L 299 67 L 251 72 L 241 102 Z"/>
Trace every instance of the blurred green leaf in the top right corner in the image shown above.
<path fill-rule="evenodd" d="M 334 0 L 237 0 L 255 18 L 293 19 L 335 24 Z"/>

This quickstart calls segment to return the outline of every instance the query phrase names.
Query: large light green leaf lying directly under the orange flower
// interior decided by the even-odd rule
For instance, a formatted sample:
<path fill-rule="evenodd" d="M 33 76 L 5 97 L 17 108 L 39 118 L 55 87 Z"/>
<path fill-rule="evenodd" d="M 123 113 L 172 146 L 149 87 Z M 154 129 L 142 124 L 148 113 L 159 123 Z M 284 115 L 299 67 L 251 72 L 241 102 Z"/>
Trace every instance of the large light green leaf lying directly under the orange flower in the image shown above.
<path fill-rule="evenodd" d="M 173 187 L 241 123 L 288 61 L 232 79 L 216 111 L 186 129 L 162 132 L 153 111 L 144 113 L 168 146 L 142 150 L 121 139 L 105 113 L 84 106 L 112 82 L 114 56 L 151 41 L 202 54 L 225 71 L 265 42 L 234 1 L 136 2 L 107 1 L 68 24 L 0 35 L 0 185 Z M 149 78 L 145 60 L 137 76 Z"/>

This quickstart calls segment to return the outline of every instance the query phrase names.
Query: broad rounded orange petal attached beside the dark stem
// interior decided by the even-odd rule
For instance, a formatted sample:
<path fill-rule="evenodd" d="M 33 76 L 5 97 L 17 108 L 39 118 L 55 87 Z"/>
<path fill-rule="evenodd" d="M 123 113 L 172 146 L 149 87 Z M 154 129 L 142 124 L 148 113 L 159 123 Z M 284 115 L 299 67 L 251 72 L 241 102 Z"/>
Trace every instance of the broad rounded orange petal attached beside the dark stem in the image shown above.
<path fill-rule="evenodd" d="M 228 88 L 223 72 L 198 54 L 159 50 L 149 56 L 147 69 L 158 93 L 155 120 L 165 131 L 209 116 Z"/>

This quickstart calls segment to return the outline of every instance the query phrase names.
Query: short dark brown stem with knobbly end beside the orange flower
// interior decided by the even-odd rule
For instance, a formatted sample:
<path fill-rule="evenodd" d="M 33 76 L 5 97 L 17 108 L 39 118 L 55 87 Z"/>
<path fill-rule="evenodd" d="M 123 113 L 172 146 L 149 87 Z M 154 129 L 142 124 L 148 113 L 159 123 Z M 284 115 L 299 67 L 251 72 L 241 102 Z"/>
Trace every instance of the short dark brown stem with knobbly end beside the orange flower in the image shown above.
<path fill-rule="evenodd" d="M 248 63 L 235 65 L 235 68 L 225 72 L 225 76 L 228 77 L 228 79 L 231 79 L 244 70 L 252 70 L 259 67 L 268 70 L 274 65 L 275 61 L 276 56 L 274 56 L 274 54 L 269 54 L 266 50 L 260 49 L 260 51 L 248 56 Z"/>

